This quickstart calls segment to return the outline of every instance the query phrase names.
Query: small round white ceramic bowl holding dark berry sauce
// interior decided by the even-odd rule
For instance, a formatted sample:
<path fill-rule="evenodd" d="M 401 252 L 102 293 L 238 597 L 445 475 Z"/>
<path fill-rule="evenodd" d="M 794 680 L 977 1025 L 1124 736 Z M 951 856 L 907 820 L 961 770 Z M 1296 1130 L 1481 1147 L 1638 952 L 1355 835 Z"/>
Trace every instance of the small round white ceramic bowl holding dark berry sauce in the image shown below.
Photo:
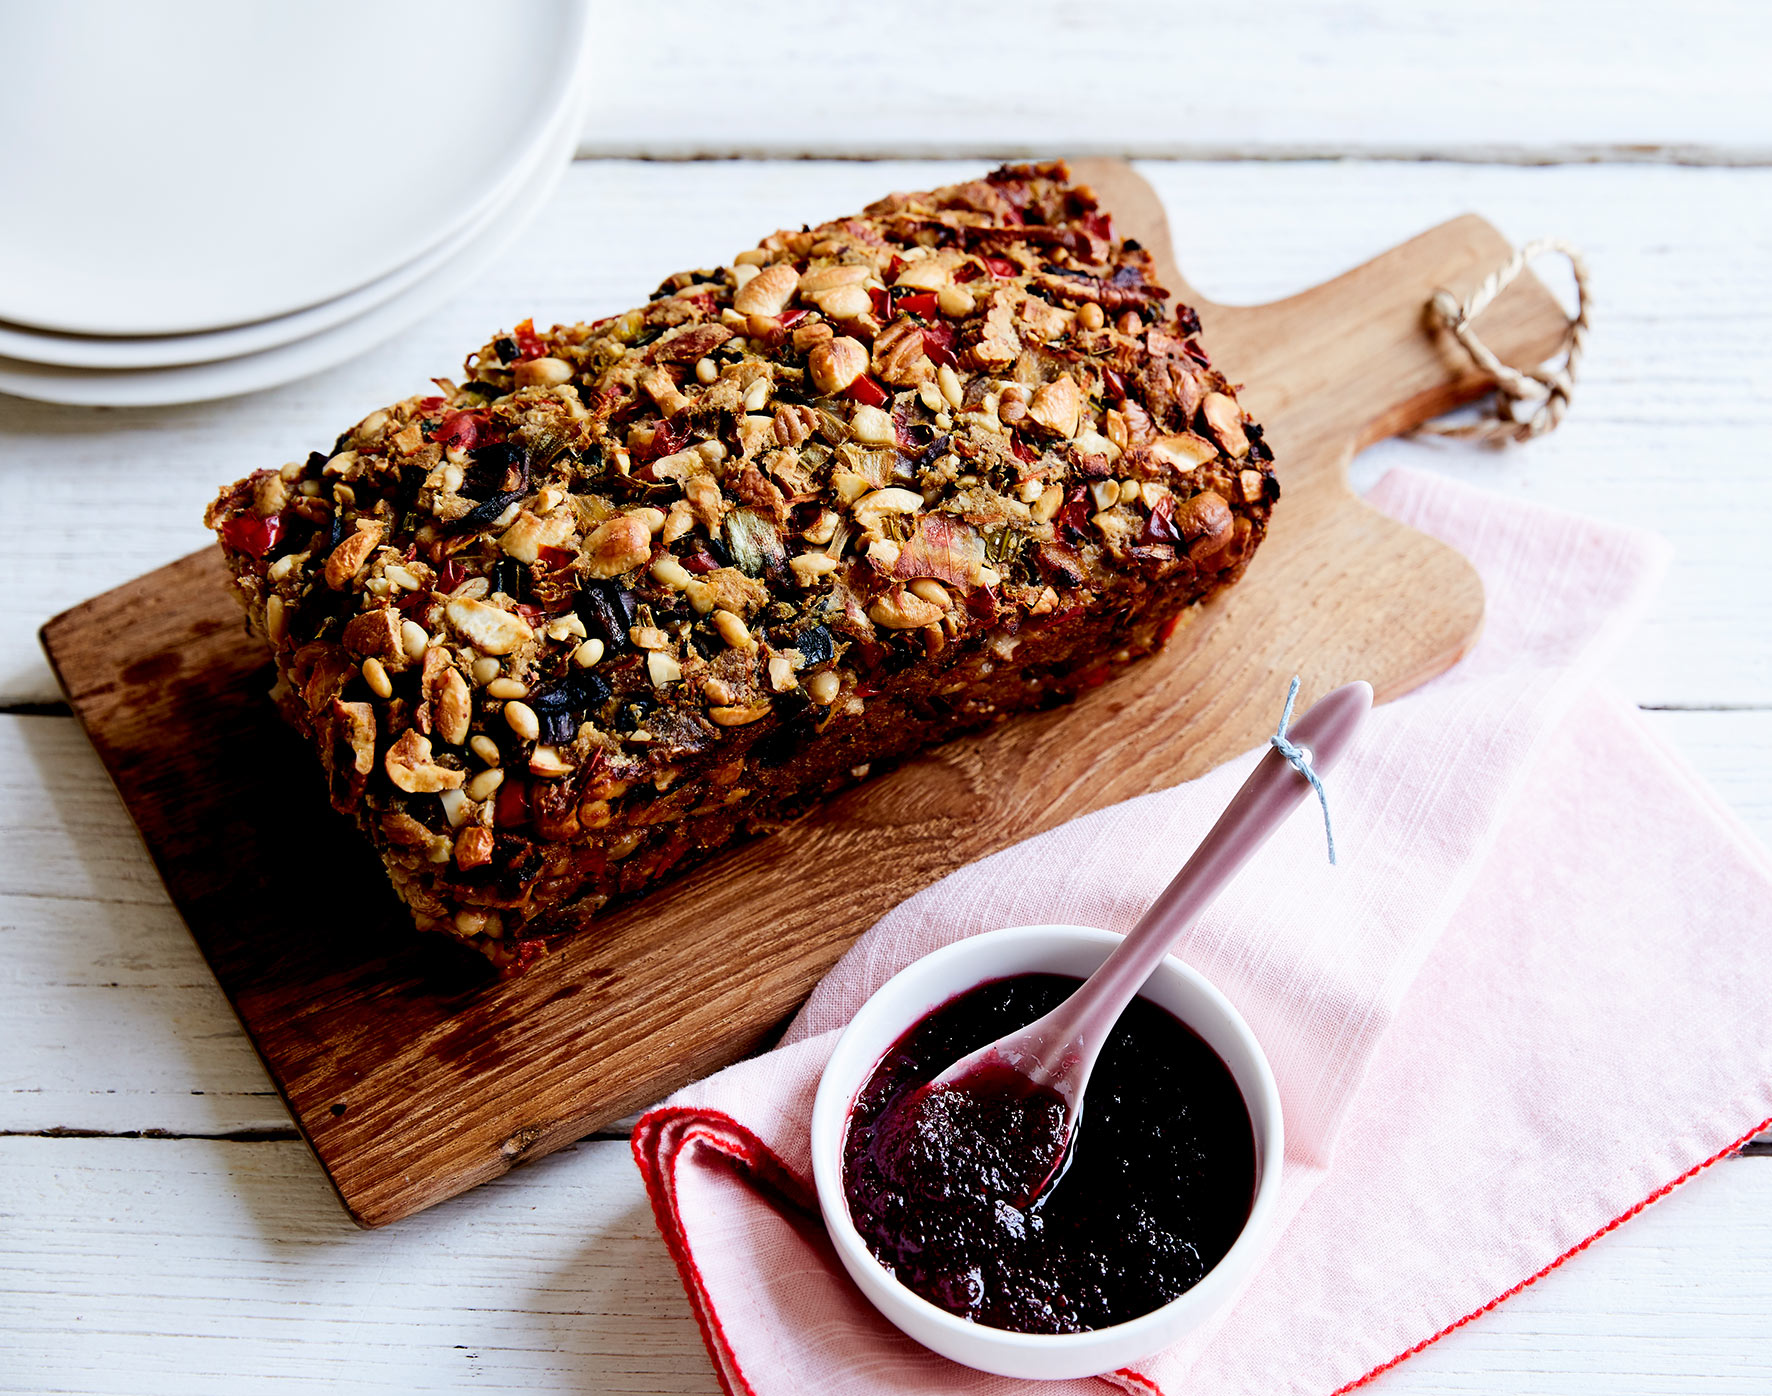
<path fill-rule="evenodd" d="M 1262 1253 L 1262 1233 L 1279 1194 L 1285 1132 L 1279 1088 L 1249 1024 L 1198 971 L 1166 958 L 1143 997 L 1193 1028 L 1230 1066 L 1255 1125 L 1255 1206 L 1235 1245 L 1187 1293 L 1111 1329 L 1028 1334 L 987 1329 L 939 1309 L 893 1279 L 849 1219 L 843 1196 L 843 1136 L 856 1095 L 886 1049 L 911 1024 L 957 994 L 1008 974 L 1086 976 L 1120 944 L 1088 927 L 1015 927 L 975 935 L 925 955 L 888 980 L 836 1042 L 812 1107 L 812 1173 L 824 1224 L 861 1293 L 925 1348 L 980 1371 L 1019 1378 L 1093 1377 L 1159 1352 L 1230 1304 Z"/>

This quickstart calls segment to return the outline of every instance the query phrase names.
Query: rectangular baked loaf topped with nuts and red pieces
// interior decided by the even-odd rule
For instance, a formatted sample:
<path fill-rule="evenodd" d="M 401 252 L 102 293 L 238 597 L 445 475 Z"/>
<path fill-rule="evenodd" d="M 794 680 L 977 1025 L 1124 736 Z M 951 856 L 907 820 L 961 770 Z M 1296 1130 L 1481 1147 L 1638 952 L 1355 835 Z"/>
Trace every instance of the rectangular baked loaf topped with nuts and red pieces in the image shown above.
<path fill-rule="evenodd" d="M 1168 299 L 1008 167 L 525 322 L 207 521 L 416 925 L 521 967 L 1242 574 L 1272 457 Z"/>

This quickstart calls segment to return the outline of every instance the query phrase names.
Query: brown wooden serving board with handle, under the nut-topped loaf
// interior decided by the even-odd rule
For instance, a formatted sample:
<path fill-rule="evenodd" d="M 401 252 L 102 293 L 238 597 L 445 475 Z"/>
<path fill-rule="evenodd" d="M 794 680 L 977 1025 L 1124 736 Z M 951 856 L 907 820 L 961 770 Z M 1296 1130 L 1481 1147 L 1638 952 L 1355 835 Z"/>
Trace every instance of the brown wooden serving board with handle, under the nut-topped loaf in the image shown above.
<path fill-rule="evenodd" d="M 216 549 L 44 627 L 174 902 L 358 1222 L 411 1215 L 734 1061 L 911 893 L 1260 742 L 1294 671 L 1306 703 L 1348 679 L 1389 698 L 1471 645 L 1483 593 L 1469 563 L 1361 503 L 1347 462 L 1483 392 L 1423 306 L 1435 287 L 1474 287 L 1504 239 L 1465 216 L 1301 296 L 1210 305 L 1182 280 L 1150 186 L 1118 161 L 1076 168 L 1200 308 L 1267 429 L 1285 492 L 1244 581 L 1127 677 L 868 781 L 514 981 L 413 934 L 266 700 L 269 659 L 243 643 Z M 1563 324 L 1526 276 L 1481 330 L 1536 363 Z"/>

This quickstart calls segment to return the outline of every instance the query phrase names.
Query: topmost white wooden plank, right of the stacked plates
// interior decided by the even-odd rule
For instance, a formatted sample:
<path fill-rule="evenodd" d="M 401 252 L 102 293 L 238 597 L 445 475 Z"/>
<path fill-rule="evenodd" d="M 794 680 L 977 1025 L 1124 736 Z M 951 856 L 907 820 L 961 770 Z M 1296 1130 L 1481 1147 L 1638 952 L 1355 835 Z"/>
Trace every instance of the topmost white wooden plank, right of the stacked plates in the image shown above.
<path fill-rule="evenodd" d="M 1077 7 L 606 5 L 585 115 L 597 156 L 1763 159 L 1763 5 L 1485 9 L 1262 0 Z M 1269 43 L 1265 35 L 1285 35 Z M 732 43 L 778 101 L 686 80 Z M 959 62 L 964 55 L 964 64 Z"/>

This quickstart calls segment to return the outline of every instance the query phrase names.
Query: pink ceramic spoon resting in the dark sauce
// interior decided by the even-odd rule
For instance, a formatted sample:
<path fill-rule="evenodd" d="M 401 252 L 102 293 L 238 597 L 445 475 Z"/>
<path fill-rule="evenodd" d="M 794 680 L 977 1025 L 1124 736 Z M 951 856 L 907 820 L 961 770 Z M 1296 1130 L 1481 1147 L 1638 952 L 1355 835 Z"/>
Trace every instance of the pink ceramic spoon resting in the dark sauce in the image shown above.
<path fill-rule="evenodd" d="M 1308 764 L 1322 776 L 1348 748 L 1370 710 L 1372 686 L 1347 684 L 1294 723 L 1288 737 L 1306 748 Z M 1028 1178 L 1028 1201 L 1044 1190 L 1069 1153 L 1090 1072 L 1120 1013 L 1180 934 L 1310 794 L 1310 781 L 1278 749 L 1269 749 L 1194 856 L 1100 969 L 1051 1013 L 960 1058 L 929 1084 L 929 1091 L 941 1091 L 968 1090 L 969 1082 L 976 1082 L 980 1091 L 994 1097 L 1040 1091 L 1063 1102 L 1063 1143 L 1056 1157 L 1028 1160 L 1030 1169 L 1038 1171 L 1038 1176 Z"/>

